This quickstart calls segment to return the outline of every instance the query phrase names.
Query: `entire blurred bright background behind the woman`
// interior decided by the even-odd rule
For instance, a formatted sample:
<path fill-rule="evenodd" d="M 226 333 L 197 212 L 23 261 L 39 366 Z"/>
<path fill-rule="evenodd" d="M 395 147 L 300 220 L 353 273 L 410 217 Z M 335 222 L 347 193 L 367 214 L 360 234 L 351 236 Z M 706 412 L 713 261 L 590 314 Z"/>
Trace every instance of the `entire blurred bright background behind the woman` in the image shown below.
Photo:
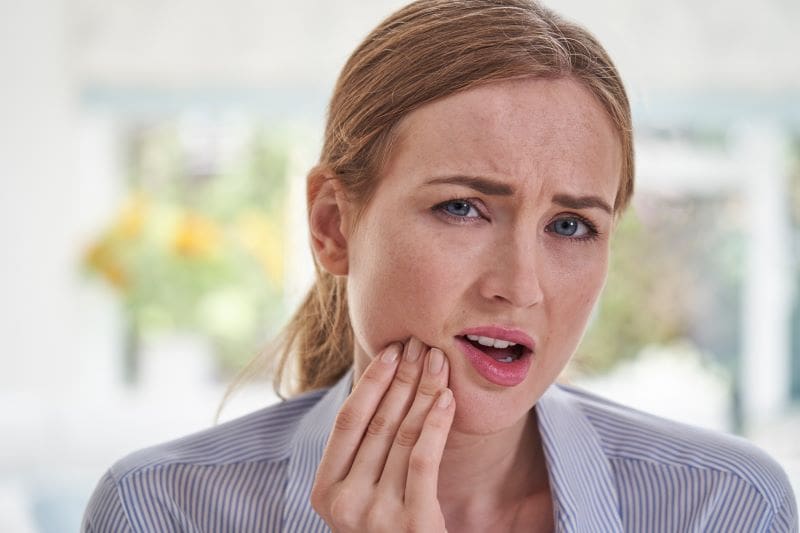
<path fill-rule="evenodd" d="M 213 423 L 309 285 L 338 70 L 403 3 L 0 0 L 0 531 L 76 530 L 114 460 Z M 548 5 L 607 46 L 637 137 L 566 379 L 744 435 L 800 492 L 800 3 Z"/>

